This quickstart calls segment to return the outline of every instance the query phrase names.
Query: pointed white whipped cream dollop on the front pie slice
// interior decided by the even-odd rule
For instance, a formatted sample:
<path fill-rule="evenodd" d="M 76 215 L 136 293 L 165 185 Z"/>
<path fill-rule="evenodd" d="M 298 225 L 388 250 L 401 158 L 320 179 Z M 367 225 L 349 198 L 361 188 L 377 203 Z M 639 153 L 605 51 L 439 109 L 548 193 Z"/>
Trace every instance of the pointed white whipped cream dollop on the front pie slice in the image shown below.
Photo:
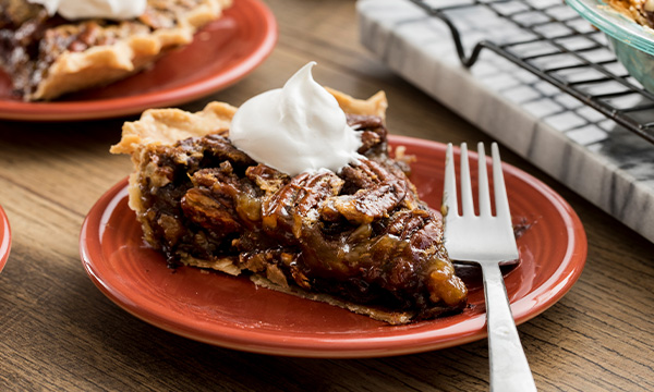
<path fill-rule="evenodd" d="M 363 156 L 361 133 L 338 101 L 311 74 L 310 62 L 283 88 L 259 94 L 239 108 L 229 131 L 233 145 L 259 163 L 289 175 L 338 172 Z"/>

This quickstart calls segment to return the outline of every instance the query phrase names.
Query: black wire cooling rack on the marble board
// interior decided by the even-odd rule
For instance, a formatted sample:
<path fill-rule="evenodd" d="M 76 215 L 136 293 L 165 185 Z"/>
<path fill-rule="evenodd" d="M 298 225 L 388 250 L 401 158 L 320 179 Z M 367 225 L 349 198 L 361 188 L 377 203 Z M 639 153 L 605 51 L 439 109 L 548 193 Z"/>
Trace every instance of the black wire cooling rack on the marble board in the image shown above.
<path fill-rule="evenodd" d="M 654 95 L 629 76 L 604 33 L 562 1 L 470 0 L 439 7 L 434 4 L 443 1 L 409 1 L 445 22 L 464 66 L 472 66 L 488 49 L 654 144 Z M 467 50 L 452 16 L 474 8 L 489 10 L 522 34 L 508 41 L 480 40 Z"/>

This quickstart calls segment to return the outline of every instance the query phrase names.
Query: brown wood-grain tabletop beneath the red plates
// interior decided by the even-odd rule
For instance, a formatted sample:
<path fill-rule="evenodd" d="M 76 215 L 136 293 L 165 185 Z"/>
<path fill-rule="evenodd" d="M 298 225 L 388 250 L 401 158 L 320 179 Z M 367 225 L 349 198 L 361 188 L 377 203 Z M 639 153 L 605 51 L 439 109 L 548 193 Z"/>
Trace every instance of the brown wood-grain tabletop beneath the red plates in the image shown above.
<path fill-rule="evenodd" d="M 243 81 L 185 109 L 210 100 L 240 105 L 316 60 L 322 84 L 356 97 L 386 90 L 395 134 L 489 142 L 360 46 L 353 1 L 267 4 L 279 22 L 272 54 Z M 0 390 L 487 390 L 485 341 L 388 358 L 274 357 L 187 340 L 123 311 L 85 273 L 78 233 L 93 204 L 131 170 L 128 157 L 108 152 L 124 120 L 0 122 L 0 205 L 13 232 L 0 274 Z M 519 328 L 538 389 L 654 390 L 654 245 L 506 149 L 504 158 L 560 193 L 588 233 L 580 280 Z"/>

